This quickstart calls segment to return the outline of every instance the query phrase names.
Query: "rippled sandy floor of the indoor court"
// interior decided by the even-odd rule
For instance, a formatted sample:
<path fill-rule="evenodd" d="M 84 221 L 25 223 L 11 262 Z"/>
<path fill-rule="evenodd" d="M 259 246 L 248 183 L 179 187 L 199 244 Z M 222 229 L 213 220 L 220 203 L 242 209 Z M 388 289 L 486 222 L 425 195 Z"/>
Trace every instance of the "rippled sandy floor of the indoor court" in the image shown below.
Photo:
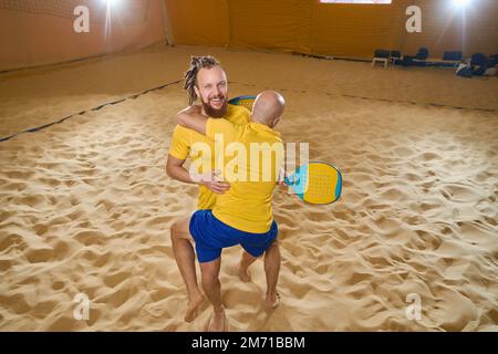
<path fill-rule="evenodd" d="M 332 206 L 277 192 L 274 312 L 263 311 L 262 262 L 241 283 L 240 249 L 224 252 L 231 331 L 498 331 L 496 77 L 152 48 L 0 76 L 0 137 L 176 81 L 190 53 L 221 60 L 231 96 L 281 91 L 283 138 L 310 142 L 310 158 L 344 177 Z M 0 143 L 0 330 L 204 329 L 207 305 L 183 321 L 169 240 L 195 207 L 196 188 L 164 171 L 185 104 L 175 84 Z M 87 321 L 73 317 L 77 293 L 91 302 Z M 409 294 L 421 296 L 419 321 L 406 316 Z"/>

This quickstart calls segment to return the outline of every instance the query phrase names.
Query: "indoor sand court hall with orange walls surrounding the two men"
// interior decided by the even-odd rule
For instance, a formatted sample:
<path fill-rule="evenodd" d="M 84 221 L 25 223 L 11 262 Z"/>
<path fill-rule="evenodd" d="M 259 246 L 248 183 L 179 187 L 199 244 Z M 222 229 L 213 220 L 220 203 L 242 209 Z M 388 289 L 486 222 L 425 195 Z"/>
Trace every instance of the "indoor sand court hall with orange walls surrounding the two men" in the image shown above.
<path fill-rule="evenodd" d="M 204 55 L 342 176 L 274 190 L 278 306 L 224 249 L 227 331 L 498 331 L 497 54 L 496 0 L 0 0 L 0 331 L 208 329 L 170 237 L 198 188 L 166 173 Z"/>

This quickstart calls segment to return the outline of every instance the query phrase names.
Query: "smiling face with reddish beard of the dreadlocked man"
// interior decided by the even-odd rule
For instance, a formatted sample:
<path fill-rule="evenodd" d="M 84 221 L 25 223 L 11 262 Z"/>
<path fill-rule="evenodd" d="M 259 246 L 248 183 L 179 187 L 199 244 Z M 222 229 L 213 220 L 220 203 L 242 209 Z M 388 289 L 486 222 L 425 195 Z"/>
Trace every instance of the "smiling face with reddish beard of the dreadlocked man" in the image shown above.
<path fill-rule="evenodd" d="M 220 118 L 227 114 L 227 75 L 220 66 L 200 69 L 197 73 L 195 91 L 206 115 Z"/>

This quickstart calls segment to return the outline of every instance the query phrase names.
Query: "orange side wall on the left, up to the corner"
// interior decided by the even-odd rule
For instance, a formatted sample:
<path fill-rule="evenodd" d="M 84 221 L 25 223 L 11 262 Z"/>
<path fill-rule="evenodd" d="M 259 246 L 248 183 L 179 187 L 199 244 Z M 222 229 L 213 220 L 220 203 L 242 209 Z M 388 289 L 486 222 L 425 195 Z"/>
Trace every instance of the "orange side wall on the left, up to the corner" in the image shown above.
<path fill-rule="evenodd" d="M 91 0 L 86 1 L 91 3 L 89 2 Z M 73 22 L 76 15 L 72 14 L 72 6 L 85 4 L 84 1 L 73 1 L 65 17 L 43 13 L 44 10 L 25 12 L 0 8 L 0 71 L 135 50 L 165 40 L 160 11 L 163 0 L 139 1 L 142 3 L 129 4 L 135 8 L 144 7 L 141 20 L 132 21 L 129 25 L 113 20 L 111 31 L 107 31 L 108 35 L 103 22 L 92 20 L 93 15 L 96 17 L 92 11 L 90 32 L 74 32 Z M 98 14 L 105 18 L 105 13 Z"/>

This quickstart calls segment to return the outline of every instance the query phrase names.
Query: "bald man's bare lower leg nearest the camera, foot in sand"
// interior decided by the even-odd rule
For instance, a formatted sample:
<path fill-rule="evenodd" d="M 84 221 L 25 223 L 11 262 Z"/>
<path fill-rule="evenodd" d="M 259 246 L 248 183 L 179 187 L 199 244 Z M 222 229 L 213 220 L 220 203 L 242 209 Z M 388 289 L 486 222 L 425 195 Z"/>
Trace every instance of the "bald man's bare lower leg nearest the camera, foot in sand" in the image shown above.
<path fill-rule="evenodd" d="M 218 278 L 220 264 L 221 258 L 200 263 L 203 289 L 214 309 L 214 315 L 208 324 L 209 332 L 224 332 L 226 324 L 225 309 L 221 303 L 221 284 Z"/>

